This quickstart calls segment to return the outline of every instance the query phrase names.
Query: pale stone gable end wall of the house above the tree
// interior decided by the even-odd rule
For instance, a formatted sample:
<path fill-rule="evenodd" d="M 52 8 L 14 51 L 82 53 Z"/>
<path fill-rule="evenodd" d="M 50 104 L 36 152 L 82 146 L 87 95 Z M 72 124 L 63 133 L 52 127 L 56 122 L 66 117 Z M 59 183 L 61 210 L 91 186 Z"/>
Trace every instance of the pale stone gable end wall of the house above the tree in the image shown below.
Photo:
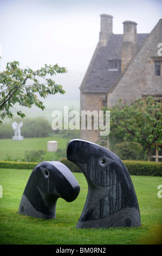
<path fill-rule="evenodd" d="M 162 20 L 153 29 L 122 73 L 118 83 L 108 94 L 108 107 L 112 107 L 121 98 L 125 104 L 130 104 L 144 95 L 157 96 L 162 99 L 162 56 L 158 56 L 160 42 L 162 42 Z M 155 60 L 161 62 L 160 76 L 155 76 Z"/>

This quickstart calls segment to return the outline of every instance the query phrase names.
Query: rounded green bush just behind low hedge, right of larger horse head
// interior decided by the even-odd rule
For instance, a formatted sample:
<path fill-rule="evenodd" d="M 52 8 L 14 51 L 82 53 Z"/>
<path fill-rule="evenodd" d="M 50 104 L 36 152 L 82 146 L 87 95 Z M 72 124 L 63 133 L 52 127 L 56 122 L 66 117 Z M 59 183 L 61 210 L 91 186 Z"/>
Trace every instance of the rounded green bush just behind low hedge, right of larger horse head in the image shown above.
<path fill-rule="evenodd" d="M 139 160 L 143 147 L 137 142 L 122 142 L 114 146 L 114 153 L 122 160 Z"/>

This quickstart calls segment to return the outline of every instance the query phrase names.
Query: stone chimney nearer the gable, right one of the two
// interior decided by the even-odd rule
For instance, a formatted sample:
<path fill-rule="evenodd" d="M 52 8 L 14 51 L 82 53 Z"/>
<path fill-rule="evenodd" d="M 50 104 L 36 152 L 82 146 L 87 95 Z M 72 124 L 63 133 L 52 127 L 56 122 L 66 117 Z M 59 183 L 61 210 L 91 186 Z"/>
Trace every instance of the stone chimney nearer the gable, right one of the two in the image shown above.
<path fill-rule="evenodd" d="M 121 46 L 121 72 L 123 72 L 129 61 L 137 52 L 137 23 L 134 21 L 124 21 L 124 34 Z"/>

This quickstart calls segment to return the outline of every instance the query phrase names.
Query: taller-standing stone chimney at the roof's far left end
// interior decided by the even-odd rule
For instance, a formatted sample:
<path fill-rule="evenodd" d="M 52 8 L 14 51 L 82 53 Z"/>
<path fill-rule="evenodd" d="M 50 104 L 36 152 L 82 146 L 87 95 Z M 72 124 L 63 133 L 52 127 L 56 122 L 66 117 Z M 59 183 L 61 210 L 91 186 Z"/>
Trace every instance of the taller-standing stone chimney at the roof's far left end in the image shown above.
<path fill-rule="evenodd" d="M 101 14 L 100 42 L 103 46 L 107 44 L 109 35 L 113 33 L 113 16 Z"/>

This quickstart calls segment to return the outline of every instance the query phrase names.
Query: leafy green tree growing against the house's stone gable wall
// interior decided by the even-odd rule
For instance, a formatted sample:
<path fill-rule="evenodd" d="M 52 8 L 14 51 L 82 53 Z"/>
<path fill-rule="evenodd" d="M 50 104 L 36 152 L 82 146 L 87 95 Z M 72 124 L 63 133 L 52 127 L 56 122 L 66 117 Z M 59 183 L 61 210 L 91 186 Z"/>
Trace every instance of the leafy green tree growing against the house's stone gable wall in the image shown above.
<path fill-rule="evenodd" d="M 106 107 L 103 108 L 108 110 Z M 131 106 L 119 100 L 111 110 L 111 131 L 124 133 L 135 142 L 147 144 L 148 159 L 151 156 L 151 145 L 162 143 L 162 104 L 152 96 L 137 99 Z"/>

